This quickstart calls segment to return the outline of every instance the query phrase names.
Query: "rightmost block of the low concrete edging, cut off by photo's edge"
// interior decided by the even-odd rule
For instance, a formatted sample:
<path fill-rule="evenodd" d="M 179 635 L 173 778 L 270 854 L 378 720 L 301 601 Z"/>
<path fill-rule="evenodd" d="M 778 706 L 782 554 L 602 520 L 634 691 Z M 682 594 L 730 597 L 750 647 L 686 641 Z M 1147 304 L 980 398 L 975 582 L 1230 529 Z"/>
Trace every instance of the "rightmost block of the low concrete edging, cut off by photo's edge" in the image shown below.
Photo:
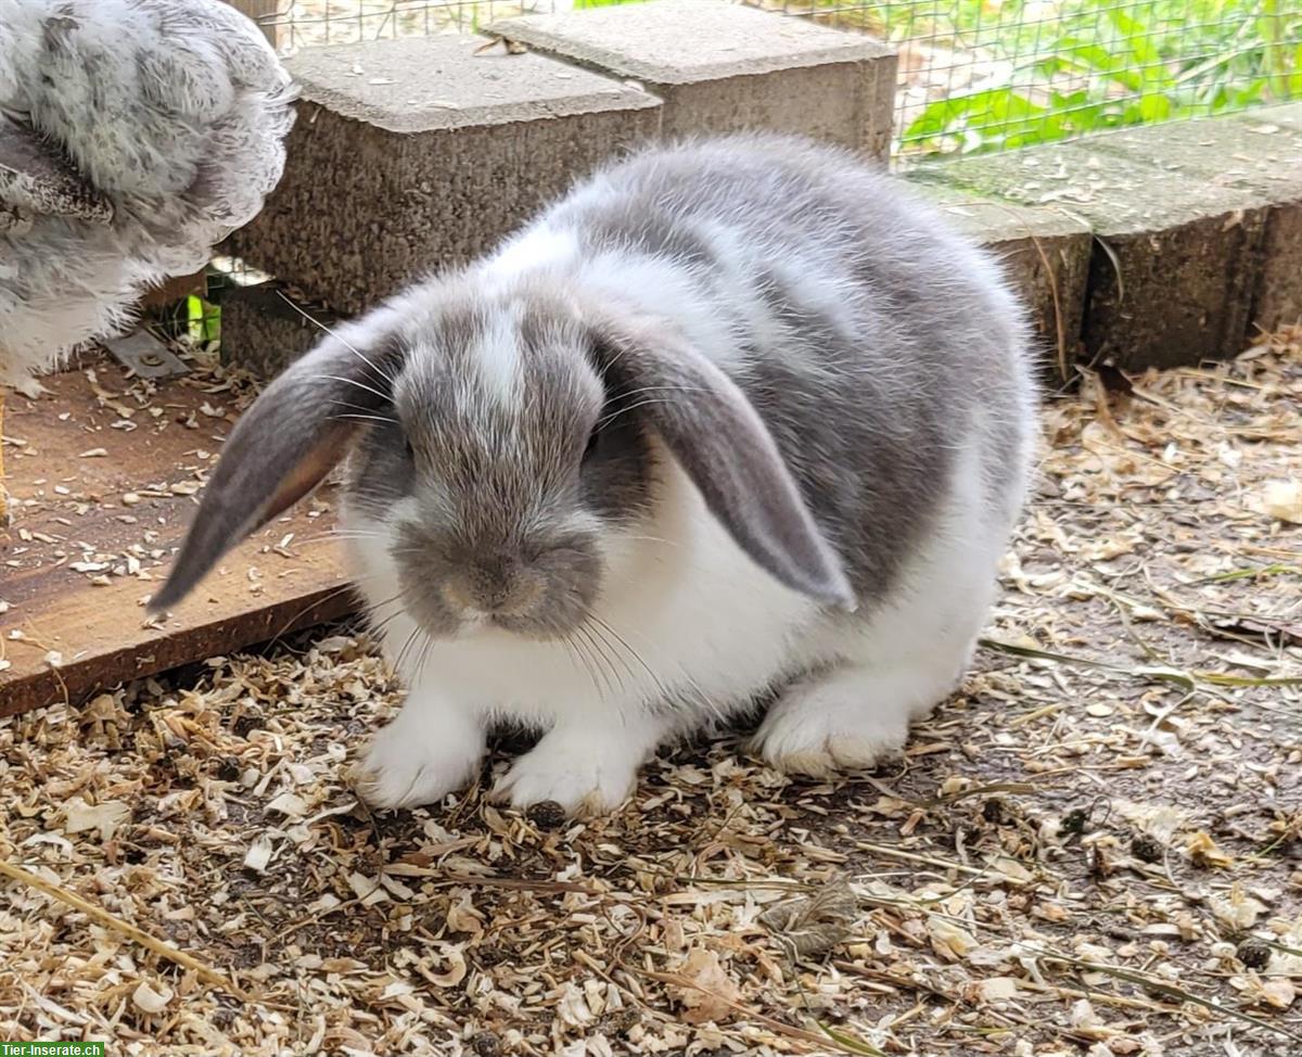
<path fill-rule="evenodd" d="M 1250 325 L 1271 331 L 1302 322 L 1302 105 L 1154 125 L 1091 143 L 1100 154 L 1151 158 L 1163 171 L 1264 198 L 1269 213 Z"/>

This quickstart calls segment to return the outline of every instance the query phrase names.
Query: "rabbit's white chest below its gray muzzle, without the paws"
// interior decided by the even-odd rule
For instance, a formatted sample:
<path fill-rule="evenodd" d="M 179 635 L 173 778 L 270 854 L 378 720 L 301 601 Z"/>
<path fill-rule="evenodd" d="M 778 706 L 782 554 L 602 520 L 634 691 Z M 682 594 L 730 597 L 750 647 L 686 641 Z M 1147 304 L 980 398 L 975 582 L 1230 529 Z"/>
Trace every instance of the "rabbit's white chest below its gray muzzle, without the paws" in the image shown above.
<path fill-rule="evenodd" d="M 540 725 L 664 704 L 700 721 L 809 663 L 801 640 L 818 608 L 758 569 L 685 476 L 668 476 L 656 517 L 611 542 L 607 583 L 583 629 L 564 642 L 535 642 L 479 627 L 424 648 L 415 625 L 397 616 L 384 643 L 408 686 Z M 397 569 L 380 540 L 350 545 L 367 600 L 379 607 L 395 597 Z M 376 616 L 384 621 L 388 612 Z"/>

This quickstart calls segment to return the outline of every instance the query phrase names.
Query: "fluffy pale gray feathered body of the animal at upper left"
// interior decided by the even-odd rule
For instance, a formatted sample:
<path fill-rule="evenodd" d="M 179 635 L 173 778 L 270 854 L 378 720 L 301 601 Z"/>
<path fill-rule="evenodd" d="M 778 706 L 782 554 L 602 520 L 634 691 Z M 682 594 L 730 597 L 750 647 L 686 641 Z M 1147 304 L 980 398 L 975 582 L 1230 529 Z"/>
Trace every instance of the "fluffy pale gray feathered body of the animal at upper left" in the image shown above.
<path fill-rule="evenodd" d="M 280 180 L 290 102 L 223 0 L 0 0 L 0 385 L 202 269 Z"/>

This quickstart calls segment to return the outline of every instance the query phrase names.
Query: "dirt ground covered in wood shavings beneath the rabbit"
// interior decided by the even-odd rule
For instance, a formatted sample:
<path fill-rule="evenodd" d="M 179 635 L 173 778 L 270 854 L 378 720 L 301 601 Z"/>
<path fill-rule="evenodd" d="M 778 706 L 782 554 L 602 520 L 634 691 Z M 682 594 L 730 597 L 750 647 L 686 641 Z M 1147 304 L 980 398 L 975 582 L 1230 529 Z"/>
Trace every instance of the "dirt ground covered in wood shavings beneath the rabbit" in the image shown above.
<path fill-rule="evenodd" d="M 371 815 L 400 691 L 346 629 L 8 720 L 0 1039 L 1302 1053 L 1299 407 L 1302 329 L 1051 402 L 987 646 L 876 775 Z"/>

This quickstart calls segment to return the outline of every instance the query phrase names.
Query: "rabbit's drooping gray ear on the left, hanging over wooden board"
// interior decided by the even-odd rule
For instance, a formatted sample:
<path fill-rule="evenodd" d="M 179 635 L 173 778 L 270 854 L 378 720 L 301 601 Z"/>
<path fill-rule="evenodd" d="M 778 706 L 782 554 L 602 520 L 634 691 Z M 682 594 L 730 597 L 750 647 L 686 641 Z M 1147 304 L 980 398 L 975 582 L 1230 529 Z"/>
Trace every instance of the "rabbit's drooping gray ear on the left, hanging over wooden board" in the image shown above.
<path fill-rule="evenodd" d="M 230 431 L 151 612 L 181 601 L 232 547 L 326 479 L 361 426 L 391 406 L 398 355 L 396 342 L 354 324 L 267 387 Z"/>

